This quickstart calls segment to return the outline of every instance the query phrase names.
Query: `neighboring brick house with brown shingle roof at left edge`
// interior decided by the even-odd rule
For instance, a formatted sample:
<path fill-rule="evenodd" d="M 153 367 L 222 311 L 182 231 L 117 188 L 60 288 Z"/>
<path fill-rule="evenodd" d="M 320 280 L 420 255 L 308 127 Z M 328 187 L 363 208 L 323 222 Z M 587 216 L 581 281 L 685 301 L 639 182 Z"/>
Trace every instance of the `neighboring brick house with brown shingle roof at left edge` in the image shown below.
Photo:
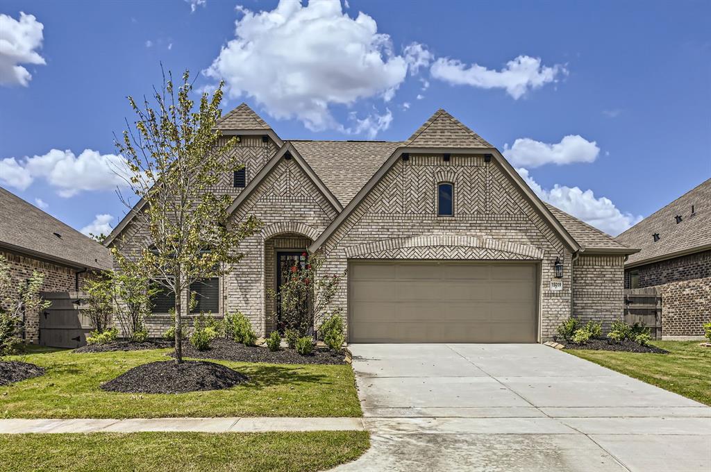
<path fill-rule="evenodd" d="M 9 262 L 13 289 L 36 270 L 44 275 L 42 291 L 78 291 L 90 274 L 112 268 L 106 247 L 4 188 L 0 255 Z M 40 314 L 25 313 L 23 326 L 26 342 L 38 343 Z"/>

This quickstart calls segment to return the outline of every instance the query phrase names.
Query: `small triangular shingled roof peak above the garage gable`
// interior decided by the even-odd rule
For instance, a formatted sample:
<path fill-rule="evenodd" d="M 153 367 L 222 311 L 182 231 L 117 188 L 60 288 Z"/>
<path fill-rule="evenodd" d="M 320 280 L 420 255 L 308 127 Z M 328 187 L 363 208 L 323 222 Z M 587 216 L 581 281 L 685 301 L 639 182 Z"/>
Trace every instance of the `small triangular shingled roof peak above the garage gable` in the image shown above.
<path fill-rule="evenodd" d="M 451 114 L 438 109 L 405 141 L 412 147 L 493 148 L 479 134 L 461 124 Z"/>

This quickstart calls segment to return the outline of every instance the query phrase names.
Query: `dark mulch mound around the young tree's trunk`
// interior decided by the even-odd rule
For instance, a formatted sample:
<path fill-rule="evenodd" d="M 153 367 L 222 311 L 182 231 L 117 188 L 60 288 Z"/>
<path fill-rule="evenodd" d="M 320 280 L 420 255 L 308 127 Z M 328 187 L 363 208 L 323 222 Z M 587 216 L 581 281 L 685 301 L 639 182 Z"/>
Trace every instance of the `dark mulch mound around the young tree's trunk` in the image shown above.
<path fill-rule="evenodd" d="M 186 393 L 223 390 L 247 380 L 246 375 L 220 364 L 203 360 L 176 364 L 172 360 L 162 360 L 127 370 L 102 384 L 101 388 L 124 393 Z"/>

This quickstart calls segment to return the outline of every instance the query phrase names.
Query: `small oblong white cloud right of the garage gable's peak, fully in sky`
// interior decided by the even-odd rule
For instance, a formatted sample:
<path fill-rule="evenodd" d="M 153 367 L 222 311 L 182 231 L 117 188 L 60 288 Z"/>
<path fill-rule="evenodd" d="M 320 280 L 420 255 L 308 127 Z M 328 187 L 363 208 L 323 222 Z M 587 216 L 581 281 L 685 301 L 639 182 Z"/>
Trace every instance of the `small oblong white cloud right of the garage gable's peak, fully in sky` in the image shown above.
<path fill-rule="evenodd" d="M 560 143 L 547 144 L 529 138 L 513 141 L 513 146 L 503 146 L 513 166 L 535 168 L 547 163 L 570 164 L 574 162 L 594 162 L 600 154 L 595 141 L 588 141 L 579 134 L 569 134 Z"/>

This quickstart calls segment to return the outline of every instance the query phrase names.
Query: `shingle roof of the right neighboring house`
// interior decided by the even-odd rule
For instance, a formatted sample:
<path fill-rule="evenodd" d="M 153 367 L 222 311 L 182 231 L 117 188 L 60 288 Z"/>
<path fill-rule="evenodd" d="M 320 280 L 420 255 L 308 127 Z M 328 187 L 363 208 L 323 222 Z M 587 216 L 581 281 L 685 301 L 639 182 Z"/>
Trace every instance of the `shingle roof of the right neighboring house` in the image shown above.
<path fill-rule="evenodd" d="M 677 216 L 681 217 L 678 223 Z M 656 233 L 659 240 L 655 242 Z M 711 178 L 641 220 L 616 240 L 641 248 L 638 254 L 629 257 L 628 266 L 711 249 Z"/>

